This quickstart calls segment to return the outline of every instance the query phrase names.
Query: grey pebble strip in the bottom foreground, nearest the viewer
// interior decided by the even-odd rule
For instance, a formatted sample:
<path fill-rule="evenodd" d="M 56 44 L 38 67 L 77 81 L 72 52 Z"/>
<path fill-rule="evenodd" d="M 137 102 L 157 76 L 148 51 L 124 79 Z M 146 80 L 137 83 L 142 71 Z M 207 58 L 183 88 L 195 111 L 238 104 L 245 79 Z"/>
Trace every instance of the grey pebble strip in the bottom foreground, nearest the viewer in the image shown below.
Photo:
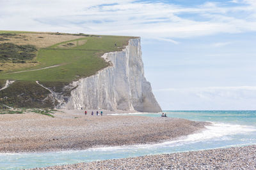
<path fill-rule="evenodd" d="M 35 169 L 256 169 L 256 145 Z"/>

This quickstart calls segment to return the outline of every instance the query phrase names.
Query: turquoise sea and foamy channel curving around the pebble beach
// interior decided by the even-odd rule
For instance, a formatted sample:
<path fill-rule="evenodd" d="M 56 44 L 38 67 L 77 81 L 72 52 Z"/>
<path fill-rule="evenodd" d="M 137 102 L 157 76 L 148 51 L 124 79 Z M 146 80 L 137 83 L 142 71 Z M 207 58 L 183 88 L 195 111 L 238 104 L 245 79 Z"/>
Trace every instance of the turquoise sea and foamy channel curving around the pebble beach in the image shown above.
<path fill-rule="evenodd" d="M 165 111 L 165 113 L 168 117 L 208 121 L 213 125 L 207 126 L 207 130 L 203 132 L 154 145 L 116 146 L 49 153 L 0 153 L 0 169 L 45 167 L 256 143 L 256 111 Z M 131 115 L 161 116 L 159 113 L 132 113 Z"/>

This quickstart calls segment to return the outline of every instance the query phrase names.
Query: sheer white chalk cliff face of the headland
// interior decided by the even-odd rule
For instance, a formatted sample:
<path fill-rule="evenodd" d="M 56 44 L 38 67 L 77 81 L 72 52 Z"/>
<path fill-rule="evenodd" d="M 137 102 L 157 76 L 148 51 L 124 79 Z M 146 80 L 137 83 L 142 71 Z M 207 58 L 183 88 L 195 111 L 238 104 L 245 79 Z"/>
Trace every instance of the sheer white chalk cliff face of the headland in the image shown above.
<path fill-rule="evenodd" d="M 130 39 L 121 52 L 105 53 L 102 57 L 110 61 L 111 66 L 74 81 L 72 86 L 76 89 L 59 108 L 161 111 L 144 77 L 140 38 Z"/>

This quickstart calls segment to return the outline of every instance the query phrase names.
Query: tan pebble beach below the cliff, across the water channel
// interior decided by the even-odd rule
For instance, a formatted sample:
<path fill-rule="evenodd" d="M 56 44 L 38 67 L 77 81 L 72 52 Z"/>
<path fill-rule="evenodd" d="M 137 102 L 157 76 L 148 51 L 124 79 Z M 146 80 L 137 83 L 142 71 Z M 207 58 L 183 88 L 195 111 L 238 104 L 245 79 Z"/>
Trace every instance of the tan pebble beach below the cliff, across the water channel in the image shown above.
<path fill-rule="evenodd" d="M 114 113 L 120 111 L 104 111 L 102 117 L 89 115 L 90 110 L 86 116 L 84 110 L 60 110 L 52 114 L 54 118 L 36 113 L 0 115 L 0 153 L 154 144 L 200 132 L 209 125 L 181 118 L 108 115 Z"/>

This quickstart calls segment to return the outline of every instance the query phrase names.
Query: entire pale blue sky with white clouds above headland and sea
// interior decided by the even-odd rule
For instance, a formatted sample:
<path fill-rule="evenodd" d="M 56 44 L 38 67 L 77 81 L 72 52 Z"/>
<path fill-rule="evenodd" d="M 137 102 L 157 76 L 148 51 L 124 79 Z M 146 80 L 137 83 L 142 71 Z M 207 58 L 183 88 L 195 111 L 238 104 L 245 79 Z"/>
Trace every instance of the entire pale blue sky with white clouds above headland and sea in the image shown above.
<path fill-rule="evenodd" d="M 256 110 L 256 0 L 0 0 L 0 30 L 140 36 L 163 110 Z"/>

